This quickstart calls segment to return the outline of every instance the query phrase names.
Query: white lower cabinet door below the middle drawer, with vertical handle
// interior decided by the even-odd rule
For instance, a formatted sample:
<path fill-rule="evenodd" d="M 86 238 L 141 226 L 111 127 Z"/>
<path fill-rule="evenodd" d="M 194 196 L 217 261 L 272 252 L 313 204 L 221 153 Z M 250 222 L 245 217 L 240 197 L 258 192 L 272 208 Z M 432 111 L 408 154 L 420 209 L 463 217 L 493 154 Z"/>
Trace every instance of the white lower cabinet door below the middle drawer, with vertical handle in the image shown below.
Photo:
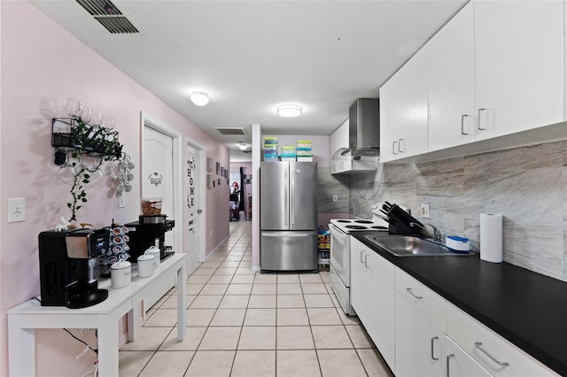
<path fill-rule="evenodd" d="M 396 376 L 441 376 L 445 332 L 396 293 Z"/>

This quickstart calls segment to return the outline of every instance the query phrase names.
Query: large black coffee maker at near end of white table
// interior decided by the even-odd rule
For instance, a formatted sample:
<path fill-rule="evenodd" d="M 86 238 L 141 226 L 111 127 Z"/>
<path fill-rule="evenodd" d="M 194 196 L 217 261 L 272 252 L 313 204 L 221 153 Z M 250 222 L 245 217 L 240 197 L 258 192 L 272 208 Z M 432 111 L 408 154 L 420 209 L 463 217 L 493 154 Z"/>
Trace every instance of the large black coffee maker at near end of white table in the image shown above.
<path fill-rule="evenodd" d="M 105 301 L 108 290 L 98 289 L 98 257 L 109 247 L 107 228 L 45 231 L 38 238 L 43 306 L 78 309 Z"/>

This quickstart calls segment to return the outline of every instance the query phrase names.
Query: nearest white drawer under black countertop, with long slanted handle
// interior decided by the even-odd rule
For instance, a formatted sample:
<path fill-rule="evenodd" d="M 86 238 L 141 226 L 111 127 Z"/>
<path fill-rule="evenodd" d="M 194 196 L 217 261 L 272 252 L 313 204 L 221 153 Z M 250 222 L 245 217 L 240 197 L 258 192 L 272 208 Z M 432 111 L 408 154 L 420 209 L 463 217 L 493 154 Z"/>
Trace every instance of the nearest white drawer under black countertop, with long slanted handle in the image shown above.
<path fill-rule="evenodd" d="M 494 376 L 557 375 L 501 335 L 496 334 L 477 319 L 473 319 L 469 314 L 450 303 L 447 304 L 447 336 Z M 509 365 L 499 365 L 479 347 L 498 362 Z"/>

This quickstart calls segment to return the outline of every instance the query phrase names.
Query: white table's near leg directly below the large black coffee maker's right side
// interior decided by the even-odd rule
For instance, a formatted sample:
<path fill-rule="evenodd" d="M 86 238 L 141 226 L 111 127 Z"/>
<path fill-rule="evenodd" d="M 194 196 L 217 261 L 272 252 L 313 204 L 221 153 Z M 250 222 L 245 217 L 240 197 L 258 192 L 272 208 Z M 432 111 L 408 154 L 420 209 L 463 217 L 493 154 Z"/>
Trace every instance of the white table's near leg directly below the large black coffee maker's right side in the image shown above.
<path fill-rule="evenodd" d="M 98 327 L 98 375 L 118 377 L 118 319 L 100 316 Z"/>

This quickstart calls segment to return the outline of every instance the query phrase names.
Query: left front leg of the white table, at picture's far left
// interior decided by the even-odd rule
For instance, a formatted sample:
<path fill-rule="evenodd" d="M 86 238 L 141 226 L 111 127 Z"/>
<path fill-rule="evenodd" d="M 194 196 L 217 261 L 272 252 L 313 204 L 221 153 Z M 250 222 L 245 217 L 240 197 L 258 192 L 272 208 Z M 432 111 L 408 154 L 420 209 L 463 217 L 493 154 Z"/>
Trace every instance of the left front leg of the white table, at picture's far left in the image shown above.
<path fill-rule="evenodd" d="M 18 317 L 8 315 L 8 373 L 35 376 L 35 330 L 20 328 L 18 322 Z"/>

